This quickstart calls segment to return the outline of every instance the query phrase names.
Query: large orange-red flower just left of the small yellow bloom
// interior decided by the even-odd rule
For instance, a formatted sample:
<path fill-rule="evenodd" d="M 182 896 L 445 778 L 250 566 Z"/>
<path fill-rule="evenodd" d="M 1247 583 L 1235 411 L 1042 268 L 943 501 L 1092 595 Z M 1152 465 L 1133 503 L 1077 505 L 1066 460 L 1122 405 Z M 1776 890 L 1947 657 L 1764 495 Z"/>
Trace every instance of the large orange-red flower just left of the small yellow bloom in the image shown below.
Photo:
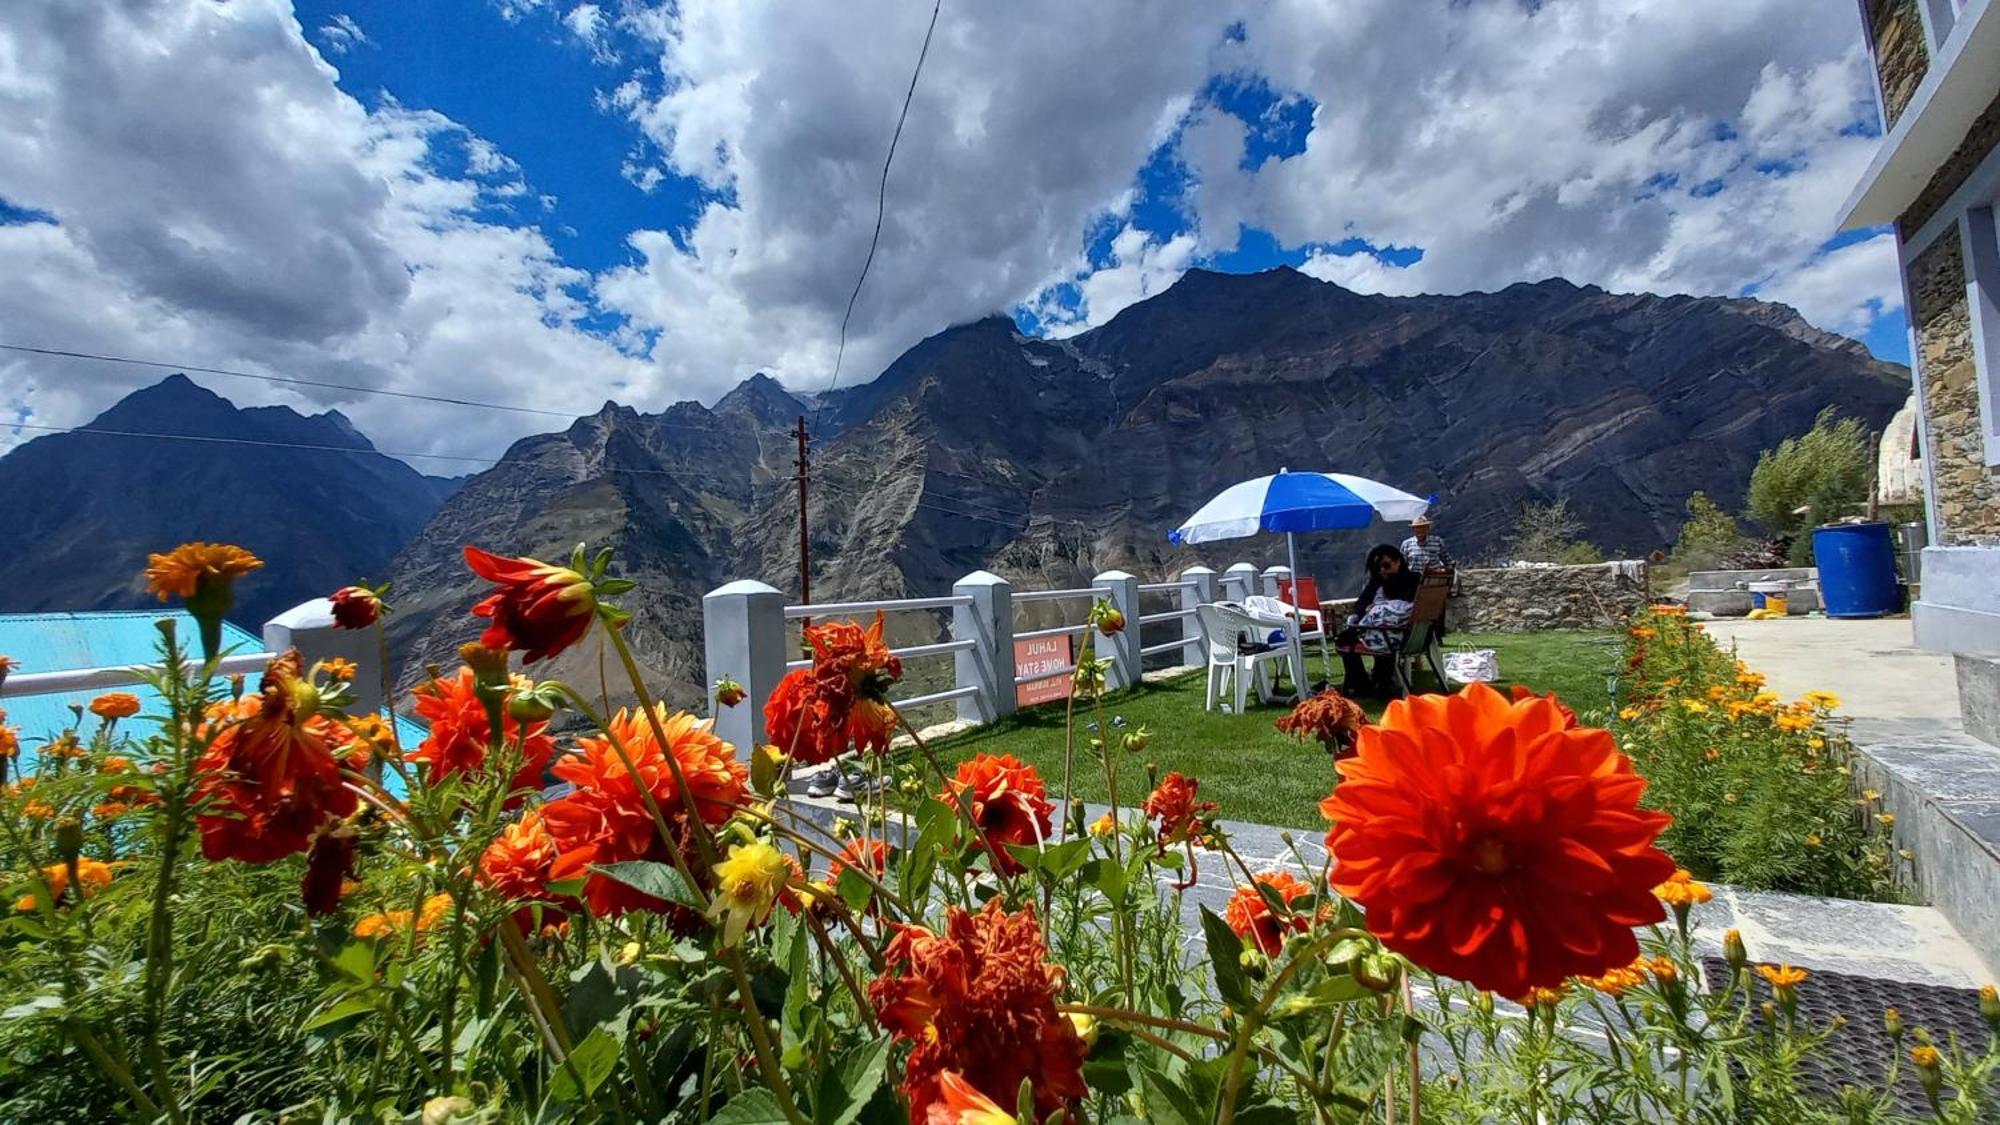
<path fill-rule="evenodd" d="M 552 881 L 584 879 L 584 901 L 596 915 L 622 915 L 626 911 L 662 911 L 676 925 L 698 925 L 680 907 L 668 911 L 670 903 L 636 891 L 592 867 L 622 863 L 628 859 L 650 859 L 666 863 L 670 859 L 666 843 L 660 839 L 652 813 L 646 809 L 646 793 L 652 795 L 674 831 L 674 845 L 682 855 L 694 855 L 694 827 L 686 821 L 686 803 L 674 785 L 674 771 L 666 755 L 674 755 L 680 773 L 688 779 L 696 811 L 706 825 L 720 825 L 730 819 L 736 805 L 750 795 L 750 771 L 736 761 L 736 749 L 716 737 L 710 723 L 688 713 L 668 713 L 666 705 L 656 705 L 660 731 L 666 735 L 662 747 L 654 739 L 652 723 L 644 713 L 620 711 L 608 725 L 626 753 L 632 757 L 632 771 L 618 761 L 612 739 L 578 739 L 580 753 L 562 757 L 554 773 L 572 789 L 560 801 L 542 805 L 542 823 L 556 841 L 560 855 L 550 865 Z M 698 879 L 708 879 L 696 871 Z"/>

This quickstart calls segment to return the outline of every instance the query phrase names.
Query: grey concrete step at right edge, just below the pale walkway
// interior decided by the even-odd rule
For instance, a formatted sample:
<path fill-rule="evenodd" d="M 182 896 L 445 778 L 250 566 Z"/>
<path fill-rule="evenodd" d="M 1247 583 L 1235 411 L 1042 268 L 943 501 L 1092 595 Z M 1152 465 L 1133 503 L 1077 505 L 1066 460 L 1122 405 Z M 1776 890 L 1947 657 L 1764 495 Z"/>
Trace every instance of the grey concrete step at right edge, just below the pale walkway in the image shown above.
<path fill-rule="evenodd" d="M 1942 719 L 1854 719 L 1856 779 L 1882 793 L 1914 891 L 2000 965 L 2000 747 Z"/>

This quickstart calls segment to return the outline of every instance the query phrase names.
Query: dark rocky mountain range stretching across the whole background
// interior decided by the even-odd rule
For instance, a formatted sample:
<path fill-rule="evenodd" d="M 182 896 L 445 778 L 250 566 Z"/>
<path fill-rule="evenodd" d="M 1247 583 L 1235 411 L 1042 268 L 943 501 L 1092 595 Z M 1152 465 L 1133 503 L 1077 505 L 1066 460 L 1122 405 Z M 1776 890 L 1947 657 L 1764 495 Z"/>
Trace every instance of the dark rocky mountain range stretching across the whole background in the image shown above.
<path fill-rule="evenodd" d="M 390 637 L 408 679 L 448 661 L 470 633 L 462 615 L 480 585 L 460 544 L 556 558 L 588 540 L 616 546 L 622 573 L 640 581 L 628 599 L 640 661 L 686 703 L 702 693 L 700 597 L 740 577 L 796 591 L 798 416 L 814 434 L 814 601 L 842 601 L 942 593 L 974 569 L 1076 585 L 1110 567 L 1160 577 L 1194 562 L 1274 560 L 1276 540 L 1194 550 L 1170 546 L 1166 528 L 1226 484 L 1282 466 L 1438 494 L 1438 528 L 1462 558 L 1496 550 L 1524 502 L 1558 496 L 1602 548 L 1642 554 L 1672 540 L 1692 490 L 1736 506 L 1758 452 L 1810 428 L 1824 406 L 1880 426 L 1908 388 L 1906 368 L 1750 298 L 1612 294 L 1564 280 L 1370 296 L 1288 268 L 1190 270 L 1078 336 L 1024 336 L 1000 316 L 958 324 L 872 382 L 828 394 L 798 396 L 758 374 L 714 406 L 648 414 L 606 402 L 562 432 L 516 442 L 456 490 L 372 450 L 322 454 L 366 464 L 358 478 L 272 450 L 260 482 L 236 484 L 262 490 L 234 496 L 222 476 L 242 472 L 216 464 L 234 452 L 96 438 L 154 458 L 114 472 L 112 448 L 70 442 L 86 434 L 38 438 L 0 458 L 0 512 L 14 516 L 10 526 L 38 528 L 22 542 L 62 554 L 34 546 L 10 560 L 0 591 L 16 605 L 0 609 L 128 601 L 132 554 L 118 542 L 238 536 L 282 550 L 290 536 L 326 532 L 352 538 L 352 552 L 266 554 L 266 583 L 284 577 L 292 591 L 276 601 L 344 581 L 308 565 L 338 560 L 346 577 L 374 577 L 394 550 Z M 92 426 L 112 428 L 108 418 L 138 404 L 156 430 L 158 398 L 192 390 L 168 380 Z M 210 424 L 230 424 L 220 398 L 204 410 Z M 338 414 L 236 414 L 242 426 L 338 430 L 366 446 Z M 64 472 L 74 480 L 60 494 L 24 484 Z M 148 498 L 158 488 L 140 486 L 148 478 L 216 502 L 168 516 Z M 318 488 L 266 494 L 274 488 L 264 482 L 302 478 Z M 326 486 L 366 496 L 350 506 L 372 520 L 328 506 Z M 112 528 L 118 538 L 106 546 Z M 1308 538 L 1302 565 L 1322 587 L 1342 587 L 1358 579 L 1368 542 Z M 248 599 L 244 617 L 258 621 Z M 574 661 L 554 673 L 594 685 L 594 655 Z"/>

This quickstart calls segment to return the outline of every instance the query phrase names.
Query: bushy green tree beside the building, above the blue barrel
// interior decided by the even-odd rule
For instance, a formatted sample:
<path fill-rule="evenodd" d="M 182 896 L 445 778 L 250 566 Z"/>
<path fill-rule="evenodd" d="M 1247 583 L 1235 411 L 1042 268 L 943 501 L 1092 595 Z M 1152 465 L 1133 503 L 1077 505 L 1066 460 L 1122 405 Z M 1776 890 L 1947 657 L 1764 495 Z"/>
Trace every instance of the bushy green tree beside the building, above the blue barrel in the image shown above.
<path fill-rule="evenodd" d="M 1868 500 L 1874 480 L 1874 442 L 1860 418 L 1842 418 L 1828 406 L 1812 428 L 1766 448 L 1750 470 L 1744 508 L 1772 534 L 1796 536 L 1794 562 L 1812 560 L 1812 536 L 1800 534 L 1832 522 Z"/>

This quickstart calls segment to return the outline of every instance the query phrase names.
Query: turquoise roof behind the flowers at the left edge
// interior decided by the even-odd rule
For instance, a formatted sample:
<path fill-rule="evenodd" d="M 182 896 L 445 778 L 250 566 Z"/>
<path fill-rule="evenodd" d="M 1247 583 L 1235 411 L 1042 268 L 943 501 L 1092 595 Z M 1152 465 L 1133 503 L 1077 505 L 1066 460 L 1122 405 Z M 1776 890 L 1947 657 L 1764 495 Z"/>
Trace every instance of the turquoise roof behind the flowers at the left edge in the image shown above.
<path fill-rule="evenodd" d="M 194 619 L 182 611 L 86 611 L 86 613 L 0 613 L 0 655 L 16 661 L 14 675 L 60 673 L 70 669 L 124 669 L 160 661 L 160 619 L 174 619 L 184 645 L 198 645 Z M 224 653 L 260 653 L 264 649 L 248 629 L 222 623 Z M 140 733 L 146 715 L 162 715 L 160 693 L 146 685 L 126 685 L 104 691 L 128 691 L 140 701 L 140 717 L 124 729 Z M 18 695 L 0 699 L 8 727 L 20 731 L 20 761 L 24 773 L 34 771 L 42 743 L 76 723 L 70 707 L 90 707 L 102 691 L 68 691 L 48 695 Z M 96 717 L 84 715 L 84 731 Z M 408 717 L 396 719 L 404 745 L 424 741 L 424 725 Z"/>

